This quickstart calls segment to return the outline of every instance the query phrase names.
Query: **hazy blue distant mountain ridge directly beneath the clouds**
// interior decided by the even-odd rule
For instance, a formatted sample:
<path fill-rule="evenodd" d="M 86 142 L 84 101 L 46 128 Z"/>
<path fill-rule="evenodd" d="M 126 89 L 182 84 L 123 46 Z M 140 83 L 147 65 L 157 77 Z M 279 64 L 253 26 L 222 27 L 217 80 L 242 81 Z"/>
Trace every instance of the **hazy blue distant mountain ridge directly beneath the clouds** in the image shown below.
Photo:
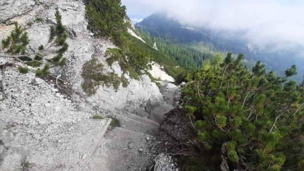
<path fill-rule="evenodd" d="M 271 46 L 259 47 L 251 42 L 240 39 L 243 33 L 228 35 L 223 32 L 215 32 L 206 28 L 182 25 L 178 21 L 169 19 L 165 14 L 155 13 L 137 23 L 135 27 L 144 34 L 161 38 L 166 42 L 183 44 L 192 47 L 203 47 L 205 51 L 219 51 L 233 54 L 243 53 L 247 61 L 255 63 L 262 61 L 267 70 L 273 70 L 282 76 L 286 68 L 296 64 L 298 75 L 293 79 L 300 82 L 304 75 L 304 57 L 300 52 L 291 50 L 271 51 Z M 275 63 L 274 63 L 275 61 Z M 251 65 L 248 65 L 251 69 Z"/>

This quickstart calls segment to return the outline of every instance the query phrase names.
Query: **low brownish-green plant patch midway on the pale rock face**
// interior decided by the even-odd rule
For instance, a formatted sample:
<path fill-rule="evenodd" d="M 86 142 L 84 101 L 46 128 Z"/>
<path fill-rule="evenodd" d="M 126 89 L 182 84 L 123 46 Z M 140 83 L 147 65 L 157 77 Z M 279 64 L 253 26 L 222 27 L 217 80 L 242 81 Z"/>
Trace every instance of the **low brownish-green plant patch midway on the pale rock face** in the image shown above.
<path fill-rule="evenodd" d="M 102 71 L 103 65 L 98 64 L 98 60 L 96 58 L 86 62 L 82 66 L 81 75 L 83 77 L 83 83 L 81 86 L 83 91 L 88 95 L 94 95 L 99 85 L 106 87 L 113 86 L 115 91 L 118 91 L 120 83 L 122 83 L 123 87 L 127 87 L 129 85 L 128 80 L 124 76 L 119 77 L 114 72 L 110 73 L 110 75 L 106 75 L 103 74 Z"/>

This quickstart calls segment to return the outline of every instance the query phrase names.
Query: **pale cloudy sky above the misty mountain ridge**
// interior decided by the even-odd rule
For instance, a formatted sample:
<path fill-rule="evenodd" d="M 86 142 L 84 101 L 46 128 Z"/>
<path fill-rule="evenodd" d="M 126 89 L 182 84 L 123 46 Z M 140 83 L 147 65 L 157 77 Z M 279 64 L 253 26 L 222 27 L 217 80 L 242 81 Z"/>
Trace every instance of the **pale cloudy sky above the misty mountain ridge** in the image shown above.
<path fill-rule="evenodd" d="M 133 21 L 156 11 L 182 24 L 237 32 L 251 43 L 304 47 L 304 0 L 122 0 Z"/>

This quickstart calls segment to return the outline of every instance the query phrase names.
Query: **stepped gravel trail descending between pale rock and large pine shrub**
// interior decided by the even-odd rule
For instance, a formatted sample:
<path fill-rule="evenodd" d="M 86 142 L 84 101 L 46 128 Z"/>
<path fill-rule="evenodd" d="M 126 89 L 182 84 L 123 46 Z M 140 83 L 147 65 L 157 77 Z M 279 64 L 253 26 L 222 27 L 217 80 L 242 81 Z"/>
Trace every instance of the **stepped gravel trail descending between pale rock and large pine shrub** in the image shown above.
<path fill-rule="evenodd" d="M 169 83 L 170 87 L 167 86 L 167 82 L 163 84 L 162 92 L 166 92 L 163 94 L 164 98 L 170 99 L 175 95 L 176 99 L 171 97 L 171 102 L 179 103 L 178 94 L 180 95 L 181 90 L 179 86 Z M 166 103 L 166 105 L 171 106 L 171 110 L 174 108 L 171 104 Z M 162 105 L 159 107 L 163 109 Z M 107 133 L 104 139 L 107 148 L 100 148 L 96 152 L 100 155 L 100 164 L 105 170 L 109 168 L 109 171 L 178 171 L 176 161 L 170 155 L 163 153 L 167 146 L 174 143 L 174 140 L 168 135 L 161 134 L 161 123 L 129 112 L 115 116 L 120 121 L 120 127 Z M 163 120 L 164 114 L 159 116 Z"/>

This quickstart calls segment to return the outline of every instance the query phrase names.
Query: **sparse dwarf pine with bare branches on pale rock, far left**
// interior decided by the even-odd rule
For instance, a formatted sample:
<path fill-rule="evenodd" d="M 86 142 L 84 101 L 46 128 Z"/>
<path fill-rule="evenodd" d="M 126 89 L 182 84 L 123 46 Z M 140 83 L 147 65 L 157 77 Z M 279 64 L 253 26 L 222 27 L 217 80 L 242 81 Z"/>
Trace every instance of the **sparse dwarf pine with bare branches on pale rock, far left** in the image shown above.
<path fill-rule="evenodd" d="M 59 11 L 55 12 L 56 25 L 50 26 L 49 42 L 47 45 L 40 45 L 37 47 L 38 51 L 35 51 L 31 47 L 27 47 L 30 43 L 28 33 L 18 25 L 17 22 L 14 23 L 14 30 L 5 39 L 1 40 L 1 46 L 3 52 L 1 52 L 0 57 L 4 58 L 14 58 L 20 62 L 24 61 L 26 65 L 32 67 L 40 67 L 41 64 L 45 64 L 43 69 L 38 69 L 36 72 L 37 76 L 44 76 L 50 74 L 49 68 L 52 64 L 53 66 L 62 66 L 66 64 L 66 58 L 63 58 L 63 54 L 68 50 L 67 32 L 65 26 L 62 25 Z M 36 21 L 42 21 L 42 19 L 37 19 Z M 43 61 L 43 52 L 51 47 L 55 48 L 54 57 L 51 60 Z M 49 63 L 46 63 L 49 62 Z M 29 69 L 24 67 L 18 68 L 21 73 L 26 73 Z"/>

